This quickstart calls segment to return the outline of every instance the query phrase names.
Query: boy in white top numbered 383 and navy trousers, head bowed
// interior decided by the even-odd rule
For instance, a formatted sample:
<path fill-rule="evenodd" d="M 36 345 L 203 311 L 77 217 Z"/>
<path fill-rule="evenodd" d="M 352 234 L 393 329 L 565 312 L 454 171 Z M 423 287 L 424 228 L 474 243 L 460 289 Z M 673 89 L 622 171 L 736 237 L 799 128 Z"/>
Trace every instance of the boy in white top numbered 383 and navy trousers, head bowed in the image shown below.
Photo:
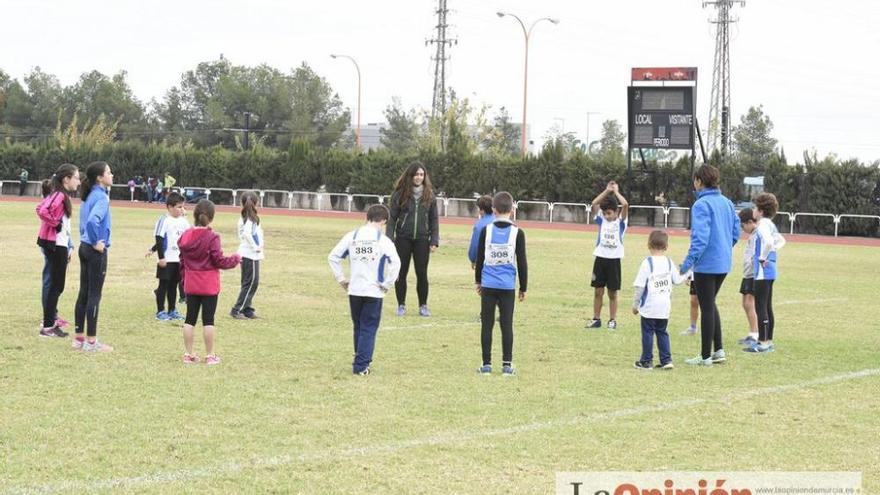
<path fill-rule="evenodd" d="M 382 300 L 397 280 L 400 257 L 397 248 L 383 232 L 388 208 L 373 205 L 367 210 L 367 224 L 342 238 L 330 251 L 327 261 L 339 285 L 348 292 L 351 321 L 354 324 L 354 362 L 352 372 L 368 375 L 376 346 L 376 331 L 382 318 Z M 349 258 L 350 278 L 345 278 L 342 260 Z"/>

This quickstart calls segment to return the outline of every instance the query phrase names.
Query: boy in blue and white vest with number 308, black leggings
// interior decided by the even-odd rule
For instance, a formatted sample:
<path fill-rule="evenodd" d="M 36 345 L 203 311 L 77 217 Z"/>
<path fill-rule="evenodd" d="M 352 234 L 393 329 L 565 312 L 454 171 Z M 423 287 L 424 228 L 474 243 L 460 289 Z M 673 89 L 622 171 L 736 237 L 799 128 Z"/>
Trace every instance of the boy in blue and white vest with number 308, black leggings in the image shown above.
<path fill-rule="evenodd" d="M 516 300 L 516 278 L 519 275 L 519 300 L 526 298 L 528 263 L 526 262 L 526 235 L 510 220 L 513 197 L 500 192 L 492 199 L 495 221 L 480 232 L 474 280 L 482 300 L 480 320 L 483 365 L 477 370 L 483 375 L 492 373 L 492 330 L 495 326 L 495 307 L 500 312 L 503 376 L 513 376 L 513 307 Z"/>

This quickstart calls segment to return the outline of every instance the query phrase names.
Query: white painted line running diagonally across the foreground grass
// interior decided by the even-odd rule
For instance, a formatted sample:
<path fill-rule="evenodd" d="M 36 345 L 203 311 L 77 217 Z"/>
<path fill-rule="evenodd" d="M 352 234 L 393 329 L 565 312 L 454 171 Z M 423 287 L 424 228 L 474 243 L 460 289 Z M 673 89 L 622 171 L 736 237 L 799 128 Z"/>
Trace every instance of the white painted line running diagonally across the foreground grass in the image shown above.
<path fill-rule="evenodd" d="M 860 378 L 868 378 L 880 376 L 880 368 L 870 368 L 850 373 L 840 373 L 837 375 L 829 375 L 822 378 L 807 380 L 803 382 L 791 383 L 787 385 L 775 385 L 772 387 L 763 387 L 756 389 L 747 389 L 736 393 L 731 393 L 721 397 L 682 399 L 674 402 L 664 402 L 650 406 L 639 406 L 626 409 L 618 409 L 615 411 L 597 412 L 585 416 L 578 416 L 567 419 L 558 419 L 539 423 L 526 423 L 508 428 L 498 428 L 491 430 L 477 431 L 458 431 L 449 432 L 428 437 L 416 438 L 404 442 L 393 442 L 385 445 L 375 445 L 357 448 L 340 448 L 329 449 L 324 451 L 316 451 L 299 455 L 278 455 L 274 457 L 266 457 L 262 459 L 254 459 L 250 462 L 236 462 L 218 464 L 200 469 L 181 469 L 177 471 L 158 472 L 146 474 L 142 476 L 133 476 L 125 478 L 111 478 L 105 480 L 65 480 L 55 483 L 49 483 L 31 487 L 9 488 L 3 491 L 4 494 L 50 494 L 59 492 L 75 492 L 87 493 L 96 490 L 109 490 L 120 488 L 135 488 L 147 485 L 157 485 L 162 483 L 174 483 L 178 481 L 190 481 L 197 478 L 208 478 L 218 475 L 229 475 L 247 469 L 264 469 L 274 466 L 287 466 L 298 463 L 336 461 L 347 459 L 350 457 L 376 455 L 376 454 L 393 454 L 401 450 L 408 450 L 420 447 L 430 447 L 436 445 L 451 445 L 472 440 L 481 440 L 490 437 L 501 437 L 507 435 L 516 435 L 519 433 L 530 433 L 535 431 L 547 430 L 557 427 L 583 426 L 594 422 L 604 422 L 617 418 L 625 418 L 629 416 L 637 416 L 640 414 L 657 413 L 670 410 L 678 410 L 684 407 L 693 407 L 703 404 L 725 403 L 729 404 L 735 401 L 748 400 L 757 396 L 765 396 L 769 394 L 780 394 L 801 390 L 808 387 L 818 385 L 830 385 Z"/>

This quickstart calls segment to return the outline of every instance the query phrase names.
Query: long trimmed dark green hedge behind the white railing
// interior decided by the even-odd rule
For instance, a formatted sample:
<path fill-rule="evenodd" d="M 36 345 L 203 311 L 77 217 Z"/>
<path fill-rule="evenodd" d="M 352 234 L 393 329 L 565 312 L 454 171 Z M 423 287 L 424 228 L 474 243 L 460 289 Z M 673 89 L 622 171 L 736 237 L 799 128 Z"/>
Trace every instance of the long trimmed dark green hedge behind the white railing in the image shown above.
<path fill-rule="evenodd" d="M 178 184 L 227 188 L 258 188 L 328 192 L 388 194 L 395 179 L 412 160 L 422 161 L 434 187 L 449 197 L 507 190 L 520 200 L 589 203 L 609 180 L 624 185 L 630 202 L 656 204 L 661 192 L 667 201 L 690 206 L 691 164 L 688 158 L 675 163 L 635 164 L 627 173 L 623 155 L 567 152 L 548 147 L 527 159 L 509 156 L 420 153 L 398 155 L 387 150 L 356 154 L 344 150 L 311 150 L 292 145 L 288 150 L 257 146 L 240 151 L 217 147 L 118 142 L 100 148 L 79 147 L 62 151 L 55 146 L 0 144 L 0 177 L 15 179 L 21 167 L 31 178 L 48 177 L 63 162 L 79 165 L 104 160 L 113 167 L 117 182 L 137 175 L 170 172 Z M 636 162 L 638 163 L 638 162 Z M 735 161 L 720 166 L 722 190 L 734 201 L 745 197 L 745 167 Z M 806 165 L 787 165 L 775 158 L 764 170 L 765 189 L 779 197 L 781 209 L 791 212 L 823 212 L 878 215 L 872 199 L 880 184 L 878 164 L 828 158 Z M 833 232 L 823 220 L 804 222 L 819 233 Z M 847 221 L 842 235 L 876 236 L 878 222 Z"/>

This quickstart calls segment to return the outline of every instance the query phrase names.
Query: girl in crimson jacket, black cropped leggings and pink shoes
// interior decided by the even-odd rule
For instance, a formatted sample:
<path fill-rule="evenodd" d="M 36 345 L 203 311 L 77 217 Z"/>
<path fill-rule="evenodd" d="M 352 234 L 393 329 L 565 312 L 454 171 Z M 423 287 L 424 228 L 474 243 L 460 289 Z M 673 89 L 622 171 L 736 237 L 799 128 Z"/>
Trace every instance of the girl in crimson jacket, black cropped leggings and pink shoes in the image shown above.
<path fill-rule="evenodd" d="M 220 236 L 211 230 L 214 221 L 214 203 L 203 199 L 193 210 L 195 227 L 180 236 L 180 271 L 183 291 L 186 294 L 186 323 L 183 325 L 183 345 L 186 353 L 183 362 L 199 362 L 193 354 L 193 327 L 202 312 L 205 337 L 205 363 L 220 364 L 214 354 L 214 313 L 217 311 L 217 295 L 220 294 L 220 270 L 235 268 L 241 261 L 237 254 L 224 256 Z"/>

